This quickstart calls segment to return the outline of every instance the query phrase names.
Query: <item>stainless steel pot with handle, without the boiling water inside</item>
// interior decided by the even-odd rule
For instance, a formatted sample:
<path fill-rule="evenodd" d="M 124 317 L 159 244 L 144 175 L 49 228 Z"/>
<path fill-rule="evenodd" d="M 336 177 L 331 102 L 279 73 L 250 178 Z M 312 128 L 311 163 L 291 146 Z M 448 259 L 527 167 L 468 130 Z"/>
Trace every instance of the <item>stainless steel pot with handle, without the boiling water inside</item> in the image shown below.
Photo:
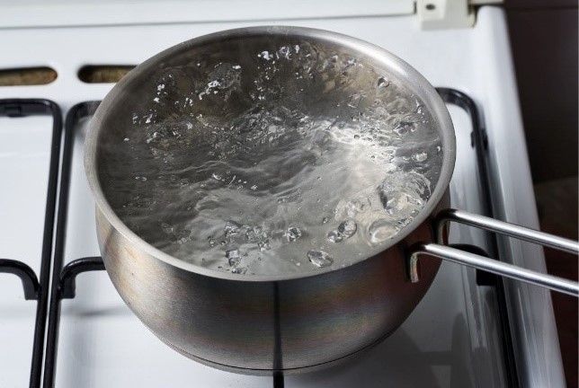
<path fill-rule="evenodd" d="M 410 89 L 432 114 L 443 148 L 441 175 L 422 213 L 387 249 L 342 269 L 315 274 L 251 276 L 218 273 L 177 260 L 141 240 L 124 225 L 103 195 L 102 139 L 125 126 L 138 105 L 140 84 L 156 69 L 190 60 L 195 53 L 236 56 L 251 66 L 263 45 L 311 42 L 382 69 Z M 246 55 L 250 53 L 251 55 Z M 148 98 L 148 97 L 147 97 Z M 218 32 L 189 40 L 152 57 L 130 72 L 102 101 L 85 145 L 85 169 L 96 200 L 102 258 L 112 283 L 138 318 L 167 345 L 187 357 L 247 374 L 272 370 L 304 372 L 347 359 L 379 343 L 405 321 L 430 287 L 441 261 L 490 270 L 577 295 L 575 283 L 458 251 L 434 229 L 454 220 L 533 242 L 577 251 L 575 242 L 530 232 L 459 211 L 450 206 L 455 160 L 450 115 L 438 93 L 414 68 L 382 48 L 328 31 L 258 27 Z M 443 215 L 436 218 L 436 215 Z M 420 271 L 417 258 L 422 260 Z M 420 281 L 418 281 L 420 279 Z"/>

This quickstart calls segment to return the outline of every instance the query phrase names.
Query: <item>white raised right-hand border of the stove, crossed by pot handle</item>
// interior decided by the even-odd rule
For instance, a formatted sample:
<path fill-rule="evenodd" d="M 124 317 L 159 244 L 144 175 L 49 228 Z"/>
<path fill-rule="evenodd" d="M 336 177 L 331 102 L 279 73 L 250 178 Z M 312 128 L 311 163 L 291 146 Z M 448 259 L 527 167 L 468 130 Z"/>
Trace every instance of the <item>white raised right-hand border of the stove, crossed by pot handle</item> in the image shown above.
<path fill-rule="evenodd" d="M 477 44 L 493 40 L 494 50 L 477 52 L 488 71 L 478 78 L 480 103 L 485 107 L 489 131 L 491 173 L 497 218 L 539 229 L 535 195 L 530 178 L 527 148 L 522 128 L 516 81 L 507 40 L 504 14 L 480 13 Z M 538 245 L 503 238 L 500 253 L 505 260 L 524 268 L 546 272 L 543 251 Z M 544 288 L 507 280 L 509 307 L 520 355 L 522 386 L 565 386 L 557 327 L 553 319 L 550 292 Z"/>

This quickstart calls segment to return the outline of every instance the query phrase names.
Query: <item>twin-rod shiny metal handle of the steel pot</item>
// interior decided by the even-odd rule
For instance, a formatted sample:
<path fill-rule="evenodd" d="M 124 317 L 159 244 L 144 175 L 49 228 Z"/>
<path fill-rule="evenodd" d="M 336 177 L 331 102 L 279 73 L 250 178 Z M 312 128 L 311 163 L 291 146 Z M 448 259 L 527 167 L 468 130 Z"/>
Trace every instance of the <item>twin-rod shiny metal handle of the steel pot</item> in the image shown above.
<path fill-rule="evenodd" d="M 579 296 L 579 283 L 558 278 L 551 275 L 535 272 L 530 269 L 523 269 L 512 264 L 507 264 L 498 260 L 488 259 L 467 251 L 461 251 L 444 245 L 444 230 L 450 221 L 475 226 L 487 231 L 504 234 L 519 238 L 528 242 L 535 242 L 543 246 L 555 248 L 559 251 L 567 251 L 579 254 L 579 242 L 574 242 L 553 234 L 546 234 L 534 229 L 520 225 L 509 224 L 495 220 L 486 216 L 474 215 L 462 210 L 445 209 L 435 218 L 436 239 L 438 243 L 417 243 L 410 248 L 410 256 L 407 260 L 407 269 L 410 281 L 413 283 L 419 280 L 418 257 L 420 255 L 430 255 L 443 260 L 449 260 L 468 267 L 483 269 L 506 278 L 513 278 L 523 282 L 547 287 L 552 290 L 568 295 Z"/>

